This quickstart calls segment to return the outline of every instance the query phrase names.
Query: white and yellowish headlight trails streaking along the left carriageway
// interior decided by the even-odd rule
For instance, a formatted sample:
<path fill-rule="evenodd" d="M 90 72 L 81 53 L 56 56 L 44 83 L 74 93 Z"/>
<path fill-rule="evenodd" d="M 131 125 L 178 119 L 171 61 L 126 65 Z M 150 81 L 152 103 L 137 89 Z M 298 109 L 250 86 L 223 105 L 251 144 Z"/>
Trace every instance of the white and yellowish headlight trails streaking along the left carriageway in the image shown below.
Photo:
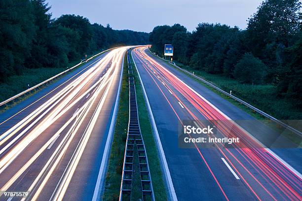
<path fill-rule="evenodd" d="M 64 198 L 91 136 L 106 136 L 102 133 L 107 126 L 97 123 L 109 115 L 104 106 L 113 104 L 109 99 L 117 96 L 128 48 L 106 53 L 0 134 L 1 192 L 28 192 L 25 200 Z"/>

